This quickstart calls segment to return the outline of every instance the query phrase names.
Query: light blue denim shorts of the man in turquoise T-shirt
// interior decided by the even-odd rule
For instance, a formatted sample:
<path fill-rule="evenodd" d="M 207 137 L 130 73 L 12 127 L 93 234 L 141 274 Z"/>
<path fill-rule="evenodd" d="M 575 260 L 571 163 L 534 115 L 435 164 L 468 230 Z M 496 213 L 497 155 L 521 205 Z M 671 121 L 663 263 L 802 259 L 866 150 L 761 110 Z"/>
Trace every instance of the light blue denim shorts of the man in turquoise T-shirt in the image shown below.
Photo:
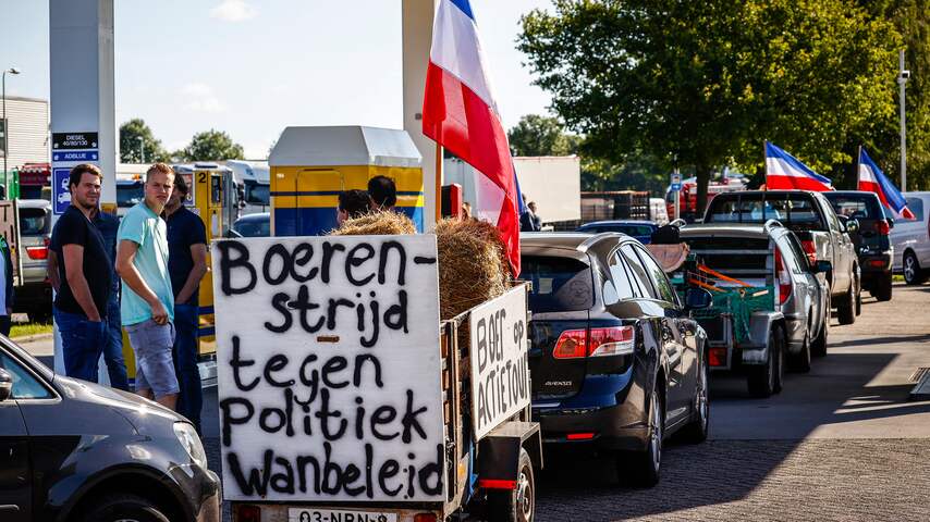
<path fill-rule="evenodd" d="M 156 399 L 179 393 L 171 357 L 174 324 L 156 324 L 149 319 L 125 328 L 136 355 L 136 390 L 150 389 Z"/>

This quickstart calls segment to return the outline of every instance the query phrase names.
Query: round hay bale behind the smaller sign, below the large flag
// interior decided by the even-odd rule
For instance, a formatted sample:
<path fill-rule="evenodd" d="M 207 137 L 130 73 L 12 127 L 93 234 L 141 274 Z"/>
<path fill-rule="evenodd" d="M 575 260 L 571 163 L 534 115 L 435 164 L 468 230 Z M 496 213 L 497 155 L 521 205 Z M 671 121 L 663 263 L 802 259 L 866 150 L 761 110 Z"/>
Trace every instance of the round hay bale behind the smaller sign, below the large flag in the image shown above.
<path fill-rule="evenodd" d="M 439 315 L 458 315 L 507 290 L 510 265 L 500 232 L 477 220 L 436 225 L 439 249 Z"/>

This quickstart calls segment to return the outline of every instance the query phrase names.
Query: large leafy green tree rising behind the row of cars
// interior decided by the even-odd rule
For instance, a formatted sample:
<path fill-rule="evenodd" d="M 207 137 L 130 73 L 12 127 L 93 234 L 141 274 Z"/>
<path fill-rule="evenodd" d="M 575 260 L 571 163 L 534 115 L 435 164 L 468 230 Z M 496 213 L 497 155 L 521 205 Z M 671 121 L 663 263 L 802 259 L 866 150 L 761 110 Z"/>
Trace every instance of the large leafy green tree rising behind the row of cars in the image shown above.
<path fill-rule="evenodd" d="M 766 138 L 830 171 L 893 115 L 896 32 L 847 0 L 555 0 L 522 24 L 518 48 L 584 149 L 690 166 L 701 208 L 711 174 L 751 172 Z"/>

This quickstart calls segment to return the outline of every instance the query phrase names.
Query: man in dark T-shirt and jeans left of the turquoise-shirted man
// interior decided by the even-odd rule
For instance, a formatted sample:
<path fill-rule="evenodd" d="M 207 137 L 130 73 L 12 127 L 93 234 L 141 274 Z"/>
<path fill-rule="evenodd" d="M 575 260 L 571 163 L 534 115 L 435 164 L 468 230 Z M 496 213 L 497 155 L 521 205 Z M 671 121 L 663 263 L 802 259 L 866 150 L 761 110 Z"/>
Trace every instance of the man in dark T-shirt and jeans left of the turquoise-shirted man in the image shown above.
<path fill-rule="evenodd" d="M 112 285 L 112 261 L 90 214 L 100 200 L 103 175 L 96 165 L 71 170 L 71 206 L 54 225 L 60 291 L 54 321 L 61 333 L 64 371 L 70 377 L 97 382 L 97 361 L 107 343 L 107 303 Z"/>

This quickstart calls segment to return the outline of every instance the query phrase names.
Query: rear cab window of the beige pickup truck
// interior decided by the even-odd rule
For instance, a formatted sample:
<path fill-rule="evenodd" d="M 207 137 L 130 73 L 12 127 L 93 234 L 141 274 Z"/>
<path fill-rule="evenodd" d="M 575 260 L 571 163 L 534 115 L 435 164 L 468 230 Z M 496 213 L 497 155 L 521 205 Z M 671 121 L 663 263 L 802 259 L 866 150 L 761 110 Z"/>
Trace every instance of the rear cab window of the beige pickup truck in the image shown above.
<path fill-rule="evenodd" d="M 705 223 L 764 223 L 778 220 L 788 227 L 827 229 L 813 199 L 798 194 L 741 194 L 713 198 Z"/>

